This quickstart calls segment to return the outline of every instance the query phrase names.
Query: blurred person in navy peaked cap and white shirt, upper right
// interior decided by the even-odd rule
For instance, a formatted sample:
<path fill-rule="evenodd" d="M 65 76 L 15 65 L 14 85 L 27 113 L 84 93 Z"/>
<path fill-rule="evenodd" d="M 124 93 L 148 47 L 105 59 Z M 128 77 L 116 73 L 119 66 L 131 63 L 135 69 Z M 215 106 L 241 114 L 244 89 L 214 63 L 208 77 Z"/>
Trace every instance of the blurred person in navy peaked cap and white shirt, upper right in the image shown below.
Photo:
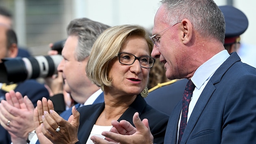
<path fill-rule="evenodd" d="M 219 6 L 225 21 L 225 49 L 229 53 L 236 51 L 241 58 L 241 61 L 256 68 L 256 45 L 241 43 L 241 34 L 248 27 L 249 21 L 246 15 L 234 6 Z"/>

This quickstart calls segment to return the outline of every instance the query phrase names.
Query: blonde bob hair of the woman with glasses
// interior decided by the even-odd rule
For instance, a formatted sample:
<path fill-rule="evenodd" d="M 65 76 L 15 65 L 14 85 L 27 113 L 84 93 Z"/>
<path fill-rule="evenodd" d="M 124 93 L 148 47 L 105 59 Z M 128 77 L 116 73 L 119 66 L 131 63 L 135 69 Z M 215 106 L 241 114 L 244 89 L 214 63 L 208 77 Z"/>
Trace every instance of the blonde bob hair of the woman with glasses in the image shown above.
<path fill-rule="evenodd" d="M 127 37 L 141 36 L 148 43 L 149 53 L 153 49 L 146 30 L 138 25 L 119 25 L 108 28 L 94 42 L 86 67 L 87 77 L 95 85 L 111 87 L 111 78 L 108 78 L 108 64 L 117 56 Z"/>

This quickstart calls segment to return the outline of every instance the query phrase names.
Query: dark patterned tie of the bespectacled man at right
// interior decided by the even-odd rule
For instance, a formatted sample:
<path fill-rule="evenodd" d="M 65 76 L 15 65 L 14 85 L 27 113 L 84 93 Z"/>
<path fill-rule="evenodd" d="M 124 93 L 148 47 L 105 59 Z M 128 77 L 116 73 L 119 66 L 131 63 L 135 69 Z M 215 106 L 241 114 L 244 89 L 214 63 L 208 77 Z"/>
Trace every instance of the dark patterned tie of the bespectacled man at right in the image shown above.
<path fill-rule="evenodd" d="M 182 114 L 181 114 L 181 120 L 180 120 L 180 130 L 179 130 L 179 140 L 178 144 L 180 144 L 182 135 L 184 133 L 185 127 L 187 125 L 187 116 L 189 112 L 189 103 L 191 101 L 191 97 L 193 94 L 193 91 L 195 89 L 195 85 L 191 80 L 188 81 L 185 91 L 183 93 L 182 98 Z"/>

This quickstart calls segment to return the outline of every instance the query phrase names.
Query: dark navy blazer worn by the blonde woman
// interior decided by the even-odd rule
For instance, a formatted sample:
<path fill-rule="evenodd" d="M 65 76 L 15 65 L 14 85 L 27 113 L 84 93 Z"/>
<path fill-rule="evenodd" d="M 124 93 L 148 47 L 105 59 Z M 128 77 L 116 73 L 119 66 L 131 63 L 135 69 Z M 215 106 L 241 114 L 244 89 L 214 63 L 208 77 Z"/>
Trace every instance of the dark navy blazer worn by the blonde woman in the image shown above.
<path fill-rule="evenodd" d="M 103 110 L 104 103 L 82 106 L 78 108 L 78 111 L 80 112 L 78 140 L 80 142 L 77 142 L 76 144 L 85 144 L 87 142 L 91 129 Z M 132 116 L 135 112 L 139 112 L 139 117 L 141 120 L 148 119 L 150 131 L 154 136 L 154 143 L 163 144 L 169 116 L 152 108 L 145 102 L 141 95 L 137 95 L 135 101 L 117 121 L 126 120 L 134 126 L 132 123 Z"/>

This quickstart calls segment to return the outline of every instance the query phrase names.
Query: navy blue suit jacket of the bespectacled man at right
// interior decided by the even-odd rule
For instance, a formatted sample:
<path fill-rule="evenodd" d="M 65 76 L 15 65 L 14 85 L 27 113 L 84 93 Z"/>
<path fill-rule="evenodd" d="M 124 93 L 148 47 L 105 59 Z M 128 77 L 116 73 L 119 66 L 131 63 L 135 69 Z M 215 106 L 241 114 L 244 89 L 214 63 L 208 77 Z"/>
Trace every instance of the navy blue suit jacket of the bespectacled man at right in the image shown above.
<path fill-rule="evenodd" d="M 165 144 L 176 144 L 182 102 L 174 108 Z M 256 69 L 234 52 L 202 91 L 180 144 L 253 144 L 256 142 Z"/>

